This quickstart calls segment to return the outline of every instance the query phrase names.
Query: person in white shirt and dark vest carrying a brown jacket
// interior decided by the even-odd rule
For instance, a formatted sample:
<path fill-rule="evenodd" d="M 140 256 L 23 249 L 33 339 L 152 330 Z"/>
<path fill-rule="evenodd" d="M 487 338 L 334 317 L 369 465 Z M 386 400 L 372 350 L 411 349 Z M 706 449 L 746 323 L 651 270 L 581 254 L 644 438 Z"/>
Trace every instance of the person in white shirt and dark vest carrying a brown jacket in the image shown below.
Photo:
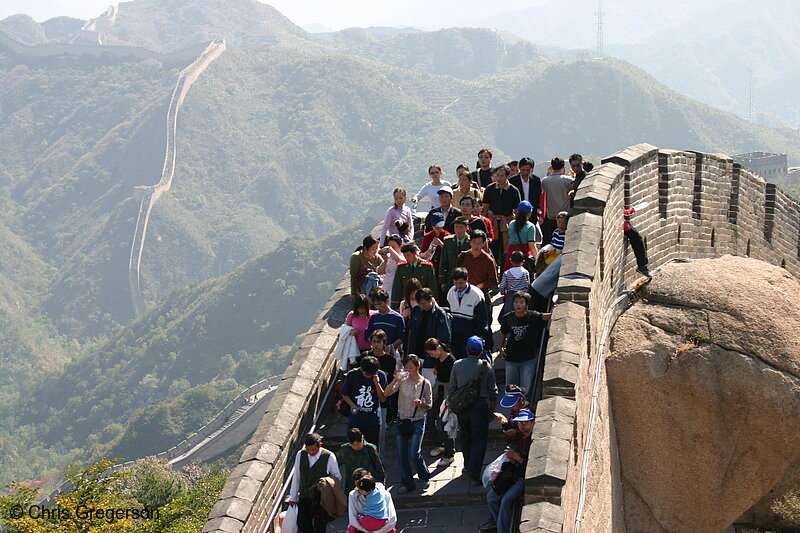
<path fill-rule="evenodd" d="M 313 512 L 310 488 L 324 477 L 342 480 L 336 456 L 322 447 L 322 435 L 309 433 L 294 458 L 289 505 L 297 505 L 297 528 L 303 533 L 325 533 L 327 522 Z"/>

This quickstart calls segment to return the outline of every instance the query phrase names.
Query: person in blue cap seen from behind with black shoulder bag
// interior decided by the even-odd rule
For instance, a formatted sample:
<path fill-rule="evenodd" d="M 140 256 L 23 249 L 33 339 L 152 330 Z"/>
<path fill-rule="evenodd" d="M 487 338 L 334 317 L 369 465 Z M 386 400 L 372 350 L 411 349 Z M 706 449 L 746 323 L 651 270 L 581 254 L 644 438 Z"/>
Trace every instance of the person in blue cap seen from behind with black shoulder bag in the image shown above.
<path fill-rule="evenodd" d="M 481 358 L 483 339 L 477 335 L 470 337 L 467 340 L 467 354 L 467 358 L 459 359 L 453 364 L 448 395 L 477 378 L 478 397 L 466 413 L 458 416 L 458 437 L 464 454 L 466 474 L 474 483 L 480 484 L 489 437 L 489 421 L 497 402 L 497 382 L 492 365 Z"/>

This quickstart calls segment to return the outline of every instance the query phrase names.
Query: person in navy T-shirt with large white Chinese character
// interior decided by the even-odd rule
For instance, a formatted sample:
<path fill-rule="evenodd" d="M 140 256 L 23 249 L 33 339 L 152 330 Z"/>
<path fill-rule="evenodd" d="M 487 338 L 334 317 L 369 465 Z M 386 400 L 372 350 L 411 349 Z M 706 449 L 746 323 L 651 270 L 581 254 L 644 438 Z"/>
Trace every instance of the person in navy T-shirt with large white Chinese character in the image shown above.
<path fill-rule="evenodd" d="M 342 386 L 342 400 L 350 406 L 347 429 L 357 427 L 367 442 L 378 444 L 381 429 L 381 402 L 385 402 L 383 388 L 386 373 L 372 356 L 361 358 L 360 368 L 349 371 Z"/>

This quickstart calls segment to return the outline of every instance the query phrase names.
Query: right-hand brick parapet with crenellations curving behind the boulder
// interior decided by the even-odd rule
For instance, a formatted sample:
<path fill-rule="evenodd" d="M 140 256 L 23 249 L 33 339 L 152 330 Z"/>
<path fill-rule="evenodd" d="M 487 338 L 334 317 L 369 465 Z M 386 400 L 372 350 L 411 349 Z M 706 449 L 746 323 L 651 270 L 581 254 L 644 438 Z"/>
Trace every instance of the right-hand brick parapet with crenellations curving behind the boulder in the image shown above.
<path fill-rule="evenodd" d="M 607 315 L 639 277 L 623 235 L 623 206 L 649 202 L 633 218 L 650 268 L 673 258 L 723 254 L 779 265 L 800 278 L 800 204 L 727 155 L 629 147 L 603 160 L 578 191 L 553 311 L 544 395 L 526 472 L 520 531 L 625 531 L 614 422 L 605 381 L 596 389 Z M 585 480 L 583 473 L 586 472 Z M 581 506 L 581 487 L 585 501 Z"/>

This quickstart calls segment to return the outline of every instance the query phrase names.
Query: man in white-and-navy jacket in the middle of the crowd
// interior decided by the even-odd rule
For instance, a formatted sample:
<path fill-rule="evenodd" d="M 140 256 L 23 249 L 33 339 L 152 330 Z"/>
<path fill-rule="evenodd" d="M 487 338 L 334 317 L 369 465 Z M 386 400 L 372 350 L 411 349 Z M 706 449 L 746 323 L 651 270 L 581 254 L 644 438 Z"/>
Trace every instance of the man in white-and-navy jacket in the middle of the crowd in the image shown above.
<path fill-rule="evenodd" d="M 447 302 L 453 315 L 450 347 L 456 359 L 467 356 L 467 339 L 484 335 L 489 324 L 483 292 L 467 281 L 468 276 L 466 268 L 454 268 L 453 286 L 447 292 Z"/>

